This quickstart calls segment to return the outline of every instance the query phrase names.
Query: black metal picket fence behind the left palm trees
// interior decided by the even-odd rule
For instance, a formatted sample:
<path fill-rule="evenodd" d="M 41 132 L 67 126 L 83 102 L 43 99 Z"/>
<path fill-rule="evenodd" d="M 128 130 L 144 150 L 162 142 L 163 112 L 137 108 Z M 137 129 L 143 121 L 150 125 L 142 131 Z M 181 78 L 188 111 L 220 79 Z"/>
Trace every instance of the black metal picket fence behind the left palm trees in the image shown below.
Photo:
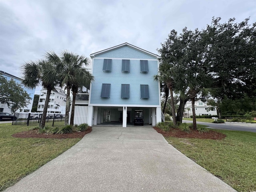
<path fill-rule="evenodd" d="M 42 120 L 42 113 L 15 113 L 16 119 L 12 121 L 12 125 L 39 126 Z M 46 115 L 45 126 L 64 126 L 65 114 L 49 113 Z"/>

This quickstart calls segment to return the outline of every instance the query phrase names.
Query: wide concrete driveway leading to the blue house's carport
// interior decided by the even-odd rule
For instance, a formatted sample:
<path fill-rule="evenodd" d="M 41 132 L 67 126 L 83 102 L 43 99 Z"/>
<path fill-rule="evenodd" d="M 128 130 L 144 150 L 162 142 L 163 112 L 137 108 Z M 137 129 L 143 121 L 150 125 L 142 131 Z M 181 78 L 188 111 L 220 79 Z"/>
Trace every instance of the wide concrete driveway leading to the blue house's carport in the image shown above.
<path fill-rule="evenodd" d="M 95 126 L 8 192 L 232 192 L 152 127 Z"/>

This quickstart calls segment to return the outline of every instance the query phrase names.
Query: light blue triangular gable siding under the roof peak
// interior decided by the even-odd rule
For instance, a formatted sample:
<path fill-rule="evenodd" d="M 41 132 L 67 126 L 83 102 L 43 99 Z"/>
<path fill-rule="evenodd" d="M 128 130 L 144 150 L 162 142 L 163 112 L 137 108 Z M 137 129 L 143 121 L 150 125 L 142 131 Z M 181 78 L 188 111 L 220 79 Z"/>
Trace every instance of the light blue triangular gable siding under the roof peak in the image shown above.
<path fill-rule="evenodd" d="M 137 59 L 156 59 L 151 55 L 148 55 L 144 52 L 135 50 L 134 48 L 123 46 L 118 49 L 110 50 L 102 54 L 98 54 L 95 57 L 102 58 L 137 58 Z"/>

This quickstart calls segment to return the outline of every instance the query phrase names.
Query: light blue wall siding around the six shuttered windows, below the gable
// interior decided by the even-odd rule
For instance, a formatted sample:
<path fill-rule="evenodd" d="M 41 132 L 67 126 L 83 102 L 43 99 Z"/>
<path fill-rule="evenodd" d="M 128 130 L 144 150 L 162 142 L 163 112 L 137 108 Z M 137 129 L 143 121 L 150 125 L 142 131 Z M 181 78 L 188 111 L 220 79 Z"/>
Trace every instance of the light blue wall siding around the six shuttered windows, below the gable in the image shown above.
<path fill-rule="evenodd" d="M 117 56 L 120 57 L 120 56 Z M 126 56 L 129 58 L 128 56 Z M 145 59 L 145 58 L 144 58 Z M 158 61 L 148 61 L 148 73 L 140 73 L 140 60 L 130 60 L 130 72 L 122 72 L 122 60 L 112 60 L 111 72 L 103 72 L 103 59 L 94 58 L 93 76 L 90 104 L 123 104 L 130 105 L 160 105 L 159 84 L 154 81 L 154 75 L 158 72 Z M 101 98 L 103 83 L 110 83 L 110 98 Z M 121 98 L 122 84 L 130 84 L 130 98 Z M 140 98 L 140 84 L 149 85 L 149 99 Z"/>

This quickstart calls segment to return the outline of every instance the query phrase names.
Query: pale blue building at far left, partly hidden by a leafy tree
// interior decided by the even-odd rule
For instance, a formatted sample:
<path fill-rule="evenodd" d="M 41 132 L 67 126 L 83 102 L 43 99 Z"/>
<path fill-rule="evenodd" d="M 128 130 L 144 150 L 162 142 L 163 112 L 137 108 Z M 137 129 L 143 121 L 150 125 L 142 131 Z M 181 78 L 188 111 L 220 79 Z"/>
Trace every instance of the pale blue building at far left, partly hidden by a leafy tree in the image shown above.
<path fill-rule="evenodd" d="M 0 75 L 4 76 L 8 81 L 14 80 L 18 84 L 22 83 L 21 78 L 18 78 L 14 75 L 8 74 L 4 71 L 0 71 Z M 35 89 L 25 88 L 23 85 L 22 85 L 22 88 L 30 95 L 31 100 L 25 108 L 20 108 L 16 112 L 31 112 L 33 100 L 34 100 Z M 0 103 L 0 112 L 12 113 L 10 108 L 8 108 L 7 104 L 5 104 L 5 103 Z"/>

